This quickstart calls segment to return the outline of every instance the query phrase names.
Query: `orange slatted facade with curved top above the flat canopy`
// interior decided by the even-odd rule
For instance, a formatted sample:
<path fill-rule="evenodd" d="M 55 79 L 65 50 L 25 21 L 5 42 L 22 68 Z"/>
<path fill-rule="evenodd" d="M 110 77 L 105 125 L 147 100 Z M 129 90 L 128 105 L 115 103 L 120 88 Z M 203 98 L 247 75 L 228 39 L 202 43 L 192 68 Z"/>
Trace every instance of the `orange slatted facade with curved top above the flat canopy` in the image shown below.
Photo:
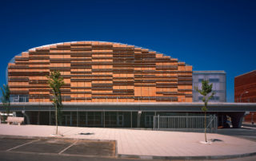
<path fill-rule="evenodd" d="M 149 49 L 101 41 L 46 45 L 8 65 L 12 95 L 49 102 L 46 75 L 62 73 L 67 102 L 192 102 L 192 66 Z"/>

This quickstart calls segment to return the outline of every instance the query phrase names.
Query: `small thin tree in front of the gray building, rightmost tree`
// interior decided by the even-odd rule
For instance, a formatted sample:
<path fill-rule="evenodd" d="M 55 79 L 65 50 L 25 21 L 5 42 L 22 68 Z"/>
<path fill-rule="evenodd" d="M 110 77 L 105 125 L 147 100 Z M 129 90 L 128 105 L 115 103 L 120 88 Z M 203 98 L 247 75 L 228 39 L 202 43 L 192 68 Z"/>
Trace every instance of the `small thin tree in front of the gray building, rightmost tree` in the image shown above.
<path fill-rule="evenodd" d="M 214 96 L 214 92 L 212 92 L 213 84 L 209 84 L 208 80 L 202 81 L 202 89 L 198 89 L 198 87 L 195 87 L 195 90 L 199 92 L 202 97 L 202 102 L 204 103 L 204 106 L 202 107 L 202 111 L 205 113 L 205 140 L 207 142 L 206 138 L 206 112 L 207 112 L 207 104 L 208 100 L 210 100 Z"/>

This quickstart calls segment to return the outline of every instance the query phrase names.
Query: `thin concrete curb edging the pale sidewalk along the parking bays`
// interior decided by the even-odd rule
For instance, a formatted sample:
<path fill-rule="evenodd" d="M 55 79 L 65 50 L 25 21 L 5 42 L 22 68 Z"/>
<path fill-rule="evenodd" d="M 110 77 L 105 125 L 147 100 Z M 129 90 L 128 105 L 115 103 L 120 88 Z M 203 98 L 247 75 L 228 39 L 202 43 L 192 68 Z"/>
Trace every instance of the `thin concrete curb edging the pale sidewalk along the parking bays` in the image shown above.
<path fill-rule="evenodd" d="M 247 156 L 256 155 L 256 151 L 252 153 L 244 153 L 238 155 L 200 155 L 200 156 L 156 156 L 156 155 L 123 155 L 118 154 L 118 141 L 110 139 L 77 139 L 54 136 L 25 136 L 25 135 L 0 135 L 0 138 L 19 138 L 19 139 L 71 139 L 71 140 L 90 140 L 90 141 L 114 141 L 115 142 L 115 156 L 117 158 L 130 159 L 162 159 L 162 160 L 202 160 L 202 159 L 235 159 Z"/>

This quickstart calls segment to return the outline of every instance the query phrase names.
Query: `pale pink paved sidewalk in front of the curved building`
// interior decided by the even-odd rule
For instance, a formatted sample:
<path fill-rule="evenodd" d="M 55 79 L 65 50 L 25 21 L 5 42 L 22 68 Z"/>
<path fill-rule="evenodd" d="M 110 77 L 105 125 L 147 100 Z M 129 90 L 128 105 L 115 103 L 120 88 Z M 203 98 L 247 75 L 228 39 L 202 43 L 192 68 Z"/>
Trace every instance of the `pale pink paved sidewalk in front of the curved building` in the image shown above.
<path fill-rule="evenodd" d="M 256 142 L 236 137 L 207 134 L 216 139 L 202 144 L 204 133 L 162 132 L 118 128 L 58 127 L 63 138 L 116 140 L 119 157 L 142 159 L 228 159 L 256 155 Z M 0 135 L 50 137 L 54 126 L 0 124 Z M 90 135 L 79 135 L 90 133 Z"/>

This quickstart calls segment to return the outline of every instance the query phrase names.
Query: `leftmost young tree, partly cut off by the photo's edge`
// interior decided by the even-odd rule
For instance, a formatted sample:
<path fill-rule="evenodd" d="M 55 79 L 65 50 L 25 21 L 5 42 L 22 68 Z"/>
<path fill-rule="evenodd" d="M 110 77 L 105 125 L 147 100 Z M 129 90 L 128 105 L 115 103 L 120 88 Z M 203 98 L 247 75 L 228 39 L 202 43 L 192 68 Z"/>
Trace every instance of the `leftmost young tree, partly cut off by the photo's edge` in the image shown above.
<path fill-rule="evenodd" d="M 1 91 L 2 91 L 1 101 L 2 101 L 2 104 L 4 105 L 4 107 L 6 108 L 7 116 L 9 116 L 9 113 L 10 113 L 10 88 L 8 85 L 3 84 Z M 6 116 L 4 117 L 4 120 L 6 120 Z"/>

